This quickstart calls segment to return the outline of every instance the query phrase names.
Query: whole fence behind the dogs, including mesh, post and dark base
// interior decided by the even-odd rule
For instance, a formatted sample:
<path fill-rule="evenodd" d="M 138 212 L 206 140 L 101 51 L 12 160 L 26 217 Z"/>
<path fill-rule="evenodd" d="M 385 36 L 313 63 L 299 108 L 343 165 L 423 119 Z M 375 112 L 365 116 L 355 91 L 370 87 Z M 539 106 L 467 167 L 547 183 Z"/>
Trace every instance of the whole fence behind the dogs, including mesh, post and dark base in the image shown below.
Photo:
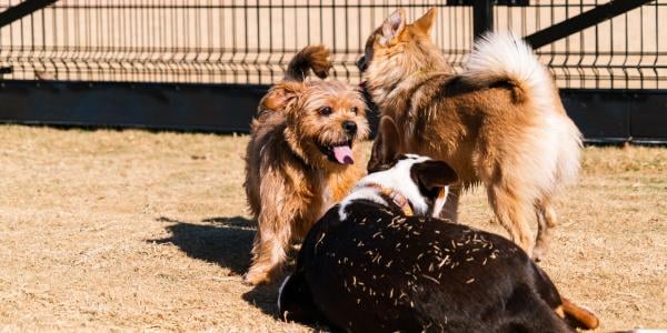
<path fill-rule="evenodd" d="M 439 8 L 434 40 L 457 69 L 480 31 L 525 36 L 588 141 L 667 142 L 667 0 L 0 0 L 0 121 L 243 132 L 306 44 L 358 82 L 366 37 L 398 7 Z"/>

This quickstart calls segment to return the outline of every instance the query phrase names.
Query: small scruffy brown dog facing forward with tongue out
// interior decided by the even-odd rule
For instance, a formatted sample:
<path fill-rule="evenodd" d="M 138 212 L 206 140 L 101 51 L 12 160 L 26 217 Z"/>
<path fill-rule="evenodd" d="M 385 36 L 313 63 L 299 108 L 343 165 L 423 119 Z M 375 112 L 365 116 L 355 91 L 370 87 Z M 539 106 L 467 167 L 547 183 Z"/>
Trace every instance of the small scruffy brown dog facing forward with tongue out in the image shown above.
<path fill-rule="evenodd" d="M 282 82 L 261 100 L 246 154 L 246 193 L 258 232 L 247 283 L 278 275 L 292 241 L 301 240 L 364 174 L 358 142 L 368 135 L 358 90 L 320 78 L 331 63 L 321 46 L 291 60 Z"/>

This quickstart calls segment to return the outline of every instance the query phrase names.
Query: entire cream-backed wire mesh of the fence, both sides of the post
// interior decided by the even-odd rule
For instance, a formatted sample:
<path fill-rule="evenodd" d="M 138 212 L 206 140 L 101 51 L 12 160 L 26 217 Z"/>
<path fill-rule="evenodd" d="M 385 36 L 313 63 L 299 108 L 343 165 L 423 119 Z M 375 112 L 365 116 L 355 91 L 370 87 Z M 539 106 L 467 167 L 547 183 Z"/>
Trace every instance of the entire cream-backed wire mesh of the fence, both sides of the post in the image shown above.
<path fill-rule="evenodd" d="M 19 0 L 1 0 L 0 10 Z M 495 8 L 496 29 L 522 36 L 604 3 L 532 0 Z M 334 50 L 358 82 L 368 34 L 398 7 L 438 7 L 434 40 L 456 69 L 472 46 L 470 7 L 446 1 L 61 0 L 0 29 L 4 79 L 262 83 L 306 44 Z M 667 88 L 667 0 L 656 0 L 538 50 L 564 88 Z"/>

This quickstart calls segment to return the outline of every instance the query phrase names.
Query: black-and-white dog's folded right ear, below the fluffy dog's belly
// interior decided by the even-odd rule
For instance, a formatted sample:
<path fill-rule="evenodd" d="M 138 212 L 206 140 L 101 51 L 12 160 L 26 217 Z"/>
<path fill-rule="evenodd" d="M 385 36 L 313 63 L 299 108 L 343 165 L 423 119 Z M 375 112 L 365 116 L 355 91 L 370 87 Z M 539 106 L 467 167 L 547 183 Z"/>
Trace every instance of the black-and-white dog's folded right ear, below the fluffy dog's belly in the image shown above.
<path fill-rule="evenodd" d="M 437 198 L 440 189 L 458 181 L 456 171 L 446 162 L 438 160 L 414 164 L 410 176 L 419 185 L 421 194 L 430 199 Z"/>

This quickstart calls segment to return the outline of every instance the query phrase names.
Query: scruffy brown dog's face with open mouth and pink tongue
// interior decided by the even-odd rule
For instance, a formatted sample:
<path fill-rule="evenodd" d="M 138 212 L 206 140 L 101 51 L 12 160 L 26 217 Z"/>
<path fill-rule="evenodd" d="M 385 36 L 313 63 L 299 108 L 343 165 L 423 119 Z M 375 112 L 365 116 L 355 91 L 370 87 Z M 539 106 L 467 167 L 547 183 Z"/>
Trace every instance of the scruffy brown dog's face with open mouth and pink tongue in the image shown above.
<path fill-rule="evenodd" d="M 283 82 L 273 87 L 262 103 L 286 112 L 286 139 L 311 165 L 352 164 L 352 149 L 368 137 L 361 94 L 337 81 Z"/>

